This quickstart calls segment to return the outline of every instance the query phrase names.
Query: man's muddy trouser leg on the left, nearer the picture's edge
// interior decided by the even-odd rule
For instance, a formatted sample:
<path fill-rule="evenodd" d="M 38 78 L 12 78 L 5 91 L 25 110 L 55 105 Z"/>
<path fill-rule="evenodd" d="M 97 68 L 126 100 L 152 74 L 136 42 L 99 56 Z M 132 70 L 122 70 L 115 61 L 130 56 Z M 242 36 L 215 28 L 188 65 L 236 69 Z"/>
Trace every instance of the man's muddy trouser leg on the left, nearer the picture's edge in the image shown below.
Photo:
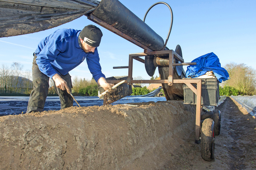
<path fill-rule="evenodd" d="M 27 113 L 43 112 L 45 100 L 49 89 L 49 77 L 43 74 L 36 64 L 34 55 L 32 66 L 33 89 L 30 93 Z"/>

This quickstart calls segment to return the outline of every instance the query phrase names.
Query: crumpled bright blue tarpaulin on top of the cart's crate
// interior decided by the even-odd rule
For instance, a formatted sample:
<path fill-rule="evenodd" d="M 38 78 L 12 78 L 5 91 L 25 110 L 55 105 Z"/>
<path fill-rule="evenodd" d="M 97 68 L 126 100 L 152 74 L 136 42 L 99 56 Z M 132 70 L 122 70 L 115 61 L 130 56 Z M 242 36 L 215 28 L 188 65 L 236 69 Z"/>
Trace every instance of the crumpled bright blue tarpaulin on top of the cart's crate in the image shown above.
<path fill-rule="evenodd" d="M 219 58 L 213 52 L 202 55 L 191 62 L 196 62 L 196 65 L 189 65 L 187 67 L 187 78 L 196 78 L 204 75 L 207 71 L 213 71 L 219 82 L 229 79 L 227 70 L 221 67 Z"/>

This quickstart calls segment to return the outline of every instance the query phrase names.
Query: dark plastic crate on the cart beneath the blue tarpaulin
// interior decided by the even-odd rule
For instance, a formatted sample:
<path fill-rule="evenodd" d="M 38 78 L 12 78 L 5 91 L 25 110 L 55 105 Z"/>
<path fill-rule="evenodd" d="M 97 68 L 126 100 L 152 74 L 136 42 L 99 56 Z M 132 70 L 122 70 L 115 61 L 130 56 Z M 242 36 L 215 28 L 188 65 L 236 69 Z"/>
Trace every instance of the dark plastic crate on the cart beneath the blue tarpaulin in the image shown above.
<path fill-rule="evenodd" d="M 204 78 L 202 80 L 201 105 L 217 106 L 219 101 L 219 81 L 217 78 Z M 192 84 L 195 88 L 196 84 Z M 184 104 L 196 105 L 196 94 L 183 84 Z"/>

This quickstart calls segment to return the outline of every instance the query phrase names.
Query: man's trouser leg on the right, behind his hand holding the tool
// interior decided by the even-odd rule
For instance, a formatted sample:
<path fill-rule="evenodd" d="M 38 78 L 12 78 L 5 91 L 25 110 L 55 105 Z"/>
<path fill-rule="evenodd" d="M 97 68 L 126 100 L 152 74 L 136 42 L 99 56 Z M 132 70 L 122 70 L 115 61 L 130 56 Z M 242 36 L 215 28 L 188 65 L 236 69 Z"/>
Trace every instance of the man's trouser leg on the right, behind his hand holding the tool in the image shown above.
<path fill-rule="evenodd" d="M 69 73 L 66 74 L 65 76 L 60 75 L 60 77 L 67 82 L 68 87 L 71 90 L 72 83 L 71 83 L 71 76 L 69 75 Z M 54 82 L 54 88 L 60 98 L 60 109 L 64 109 L 64 108 L 73 106 L 74 99 L 72 98 L 72 96 L 70 94 L 68 94 L 68 92 L 66 90 L 61 90 L 58 87 L 56 87 L 55 82 Z"/>

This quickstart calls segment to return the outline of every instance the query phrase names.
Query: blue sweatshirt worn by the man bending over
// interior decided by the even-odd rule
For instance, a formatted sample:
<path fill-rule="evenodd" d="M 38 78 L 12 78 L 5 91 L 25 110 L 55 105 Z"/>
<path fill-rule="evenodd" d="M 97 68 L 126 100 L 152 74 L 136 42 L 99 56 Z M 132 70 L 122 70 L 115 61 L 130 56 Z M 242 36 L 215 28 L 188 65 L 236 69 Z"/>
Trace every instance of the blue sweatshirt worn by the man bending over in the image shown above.
<path fill-rule="evenodd" d="M 94 52 L 84 52 L 78 42 L 81 30 L 60 29 L 41 40 L 35 51 L 39 70 L 52 78 L 56 73 L 66 75 L 85 59 L 96 82 L 105 75 L 101 72 L 97 47 Z"/>

